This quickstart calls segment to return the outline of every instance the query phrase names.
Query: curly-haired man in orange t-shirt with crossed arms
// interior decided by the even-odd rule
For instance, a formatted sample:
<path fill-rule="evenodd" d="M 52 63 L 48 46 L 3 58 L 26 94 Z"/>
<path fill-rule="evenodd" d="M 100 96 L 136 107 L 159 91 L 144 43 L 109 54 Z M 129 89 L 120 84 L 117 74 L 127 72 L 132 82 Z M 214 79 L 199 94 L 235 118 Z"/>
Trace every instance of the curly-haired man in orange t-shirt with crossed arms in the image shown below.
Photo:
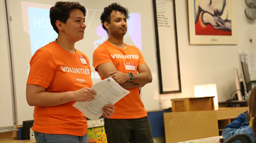
<path fill-rule="evenodd" d="M 153 143 L 147 111 L 140 98 L 140 87 L 152 82 L 151 71 L 142 53 L 123 42 L 127 32 L 129 11 L 118 3 L 104 8 L 100 16 L 108 39 L 93 53 L 93 66 L 101 80 L 112 77 L 130 91 L 115 106 L 109 118 L 104 118 L 108 143 Z"/>

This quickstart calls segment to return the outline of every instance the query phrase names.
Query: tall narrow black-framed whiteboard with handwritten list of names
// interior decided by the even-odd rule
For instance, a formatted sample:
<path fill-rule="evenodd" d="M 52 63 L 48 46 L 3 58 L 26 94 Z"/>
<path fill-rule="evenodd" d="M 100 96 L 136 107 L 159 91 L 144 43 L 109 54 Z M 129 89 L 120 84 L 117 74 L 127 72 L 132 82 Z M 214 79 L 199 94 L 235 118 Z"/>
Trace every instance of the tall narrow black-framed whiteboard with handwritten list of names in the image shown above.
<path fill-rule="evenodd" d="M 181 93 L 175 0 L 153 0 L 160 94 Z"/>

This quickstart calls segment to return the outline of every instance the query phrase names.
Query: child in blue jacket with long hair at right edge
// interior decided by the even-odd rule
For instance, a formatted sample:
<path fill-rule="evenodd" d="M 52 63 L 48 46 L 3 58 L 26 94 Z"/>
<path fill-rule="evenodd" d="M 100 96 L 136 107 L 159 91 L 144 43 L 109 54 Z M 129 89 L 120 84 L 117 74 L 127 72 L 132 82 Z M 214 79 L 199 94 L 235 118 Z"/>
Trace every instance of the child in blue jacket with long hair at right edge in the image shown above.
<path fill-rule="evenodd" d="M 256 143 L 256 120 L 254 117 L 256 115 L 256 86 L 253 87 L 249 100 L 248 100 L 249 110 L 244 111 L 238 117 L 236 117 L 233 122 L 229 123 L 222 132 L 224 141 L 231 136 L 237 134 L 247 134 L 251 138 L 252 142 Z"/>

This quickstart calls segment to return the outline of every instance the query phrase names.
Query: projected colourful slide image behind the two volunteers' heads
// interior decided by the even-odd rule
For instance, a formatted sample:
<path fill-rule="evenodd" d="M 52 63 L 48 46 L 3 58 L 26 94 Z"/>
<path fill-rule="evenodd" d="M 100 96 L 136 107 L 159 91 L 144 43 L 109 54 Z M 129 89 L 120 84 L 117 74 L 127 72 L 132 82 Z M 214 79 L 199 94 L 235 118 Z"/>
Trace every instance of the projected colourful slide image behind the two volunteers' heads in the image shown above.
<path fill-rule="evenodd" d="M 37 49 L 54 41 L 58 36 L 50 23 L 50 7 L 52 7 L 52 5 L 21 1 L 23 29 L 30 37 L 31 56 Z M 84 51 L 85 54 L 86 51 L 90 51 L 90 53 L 93 52 L 98 45 L 108 38 L 107 32 L 102 28 L 100 23 L 99 16 L 101 13 L 102 10 L 86 9 L 85 24 L 87 27 L 85 29 L 84 40 L 81 41 L 83 42 L 81 46 L 83 48 L 80 49 L 79 46 L 76 45 L 77 48 Z M 127 29 L 127 34 L 124 36 L 124 41 L 142 50 L 141 14 L 130 13 L 130 17 L 131 18 L 127 21 L 129 28 Z M 86 51 L 84 49 L 86 49 Z M 87 56 L 90 56 L 90 54 Z M 93 68 L 91 69 L 92 81 L 96 83 L 98 81 L 97 79 L 100 79 L 100 77 Z"/>

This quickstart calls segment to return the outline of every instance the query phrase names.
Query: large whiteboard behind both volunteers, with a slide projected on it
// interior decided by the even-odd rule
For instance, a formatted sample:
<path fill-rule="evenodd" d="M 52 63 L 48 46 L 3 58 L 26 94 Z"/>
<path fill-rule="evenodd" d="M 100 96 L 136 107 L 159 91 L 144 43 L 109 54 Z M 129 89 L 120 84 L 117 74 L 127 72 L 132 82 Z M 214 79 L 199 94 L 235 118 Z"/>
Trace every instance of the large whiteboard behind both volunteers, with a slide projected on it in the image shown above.
<path fill-rule="evenodd" d="M 127 21 L 128 29 L 124 42 L 137 46 L 153 75 L 153 82 L 142 89 L 142 101 L 146 110 L 159 109 L 159 90 L 157 80 L 157 59 L 155 49 L 155 30 L 152 1 L 148 0 L 78 0 L 86 10 L 86 29 L 84 39 L 75 43 L 75 48 L 85 53 L 91 65 L 93 83 L 100 77 L 92 66 L 92 53 L 108 35 L 100 23 L 103 8 L 112 2 L 118 2 L 130 11 L 131 18 Z M 9 0 L 7 1 L 10 18 L 10 46 L 14 79 L 14 96 L 16 98 L 18 125 L 24 120 L 33 119 L 33 107 L 26 102 L 26 81 L 29 73 L 29 61 L 37 49 L 54 41 L 57 33 L 53 30 L 49 9 L 54 0 Z M 142 8 L 143 6 L 143 8 Z M 63 57 L 65 58 L 65 57 Z"/>

